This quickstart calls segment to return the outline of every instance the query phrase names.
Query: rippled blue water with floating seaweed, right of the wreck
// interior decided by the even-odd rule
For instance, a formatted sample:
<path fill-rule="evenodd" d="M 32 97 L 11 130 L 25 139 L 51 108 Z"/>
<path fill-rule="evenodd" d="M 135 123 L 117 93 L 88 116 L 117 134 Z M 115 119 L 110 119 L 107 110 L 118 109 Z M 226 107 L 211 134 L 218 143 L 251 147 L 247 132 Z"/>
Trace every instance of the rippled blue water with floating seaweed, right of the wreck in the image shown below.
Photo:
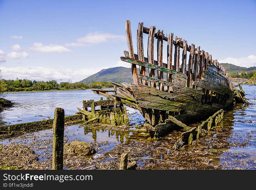
<path fill-rule="evenodd" d="M 242 88 L 250 104 L 238 104 L 224 114 L 223 125 L 233 128 L 228 140 L 234 143 L 221 155 L 225 169 L 256 169 L 256 86 Z"/>

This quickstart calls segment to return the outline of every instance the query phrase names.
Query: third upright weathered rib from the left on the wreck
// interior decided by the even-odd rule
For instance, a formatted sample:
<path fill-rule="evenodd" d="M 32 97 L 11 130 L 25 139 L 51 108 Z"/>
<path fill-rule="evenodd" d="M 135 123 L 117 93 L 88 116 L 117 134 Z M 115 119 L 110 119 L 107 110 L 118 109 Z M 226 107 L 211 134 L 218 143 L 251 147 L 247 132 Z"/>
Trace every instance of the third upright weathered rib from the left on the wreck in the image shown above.
<path fill-rule="evenodd" d="M 154 64 L 154 37 L 155 37 L 155 26 L 150 26 L 149 34 L 148 34 L 148 44 L 147 44 L 147 57 L 148 63 Z M 149 68 L 149 76 L 155 77 L 155 71 L 153 68 Z M 150 83 L 150 86 L 156 88 L 155 83 Z"/>

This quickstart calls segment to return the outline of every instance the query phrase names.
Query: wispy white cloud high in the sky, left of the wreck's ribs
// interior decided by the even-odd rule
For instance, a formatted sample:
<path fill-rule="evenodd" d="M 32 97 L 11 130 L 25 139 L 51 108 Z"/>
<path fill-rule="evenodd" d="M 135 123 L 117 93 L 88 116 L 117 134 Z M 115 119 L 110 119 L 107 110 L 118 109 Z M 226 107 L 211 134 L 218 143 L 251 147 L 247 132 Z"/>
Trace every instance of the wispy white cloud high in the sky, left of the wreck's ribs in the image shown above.
<path fill-rule="evenodd" d="M 103 32 L 91 32 L 84 37 L 78 38 L 77 42 L 67 43 L 66 46 L 88 46 L 104 42 L 125 41 L 124 35 L 114 35 Z"/>

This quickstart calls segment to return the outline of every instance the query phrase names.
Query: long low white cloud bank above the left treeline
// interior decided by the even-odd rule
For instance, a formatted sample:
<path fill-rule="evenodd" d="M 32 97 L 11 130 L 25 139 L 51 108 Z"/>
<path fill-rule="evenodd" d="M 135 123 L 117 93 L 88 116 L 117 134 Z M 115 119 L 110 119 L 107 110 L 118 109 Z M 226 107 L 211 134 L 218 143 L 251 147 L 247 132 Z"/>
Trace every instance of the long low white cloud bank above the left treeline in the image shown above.
<path fill-rule="evenodd" d="M 79 82 L 86 77 L 99 72 L 102 68 L 93 69 L 70 69 L 70 68 L 46 68 L 46 67 L 0 67 L 4 79 L 27 79 L 49 81 L 56 80 L 58 83 L 72 79 L 72 82 Z"/>

